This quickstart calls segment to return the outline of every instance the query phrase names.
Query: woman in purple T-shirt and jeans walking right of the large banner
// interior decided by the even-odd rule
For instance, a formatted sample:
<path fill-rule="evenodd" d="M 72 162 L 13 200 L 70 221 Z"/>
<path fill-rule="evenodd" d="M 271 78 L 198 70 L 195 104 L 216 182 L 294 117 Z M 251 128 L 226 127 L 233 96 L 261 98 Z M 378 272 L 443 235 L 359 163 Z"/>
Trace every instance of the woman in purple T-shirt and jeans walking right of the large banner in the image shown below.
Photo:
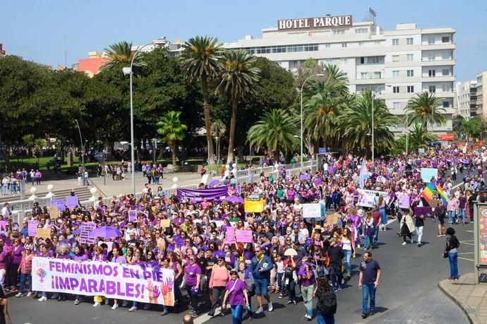
<path fill-rule="evenodd" d="M 239 273 L 236 270 L 230 271 L 230 280 L 227 283 L 227 292 L 223 297 L 222 309 L 226 308 L 228 296 L 230 296 L 229 304 L 232 309 L 232 323 L 241 324 L 244 305 L 248 308 L 248 295 L 247 285 L 239 279 Z"/>

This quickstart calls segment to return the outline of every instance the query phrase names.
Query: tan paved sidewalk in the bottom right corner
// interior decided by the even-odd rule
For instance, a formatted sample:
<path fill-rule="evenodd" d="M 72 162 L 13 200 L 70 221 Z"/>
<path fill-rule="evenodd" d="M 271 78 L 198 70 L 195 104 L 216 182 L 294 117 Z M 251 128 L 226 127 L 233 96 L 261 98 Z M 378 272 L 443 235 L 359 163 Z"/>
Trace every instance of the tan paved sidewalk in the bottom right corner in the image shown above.
<path fill-rule="evenodd" d="M 481 274 L 482 276 L 482 274 Z M 487 279 L 484 273 L 483 277 Z M 457 303 L 469 317 L 470 323 L 487 323 L 487 282 L 474 284 L 474 274 L 467 273 L 459 280 L 443 280 L 438 287 Z"/>

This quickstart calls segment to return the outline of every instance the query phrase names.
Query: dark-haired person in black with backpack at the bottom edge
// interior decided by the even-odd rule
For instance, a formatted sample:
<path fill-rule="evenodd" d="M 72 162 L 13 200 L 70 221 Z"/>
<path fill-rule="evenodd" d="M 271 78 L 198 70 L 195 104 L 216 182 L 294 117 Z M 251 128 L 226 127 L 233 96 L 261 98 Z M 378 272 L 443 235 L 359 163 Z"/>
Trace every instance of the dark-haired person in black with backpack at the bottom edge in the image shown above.
<path fill-rule="evenodd" d="M 337 313 L 337 295 L 330 287 L 326 276 L 320 276 L 316 280 L 313 297 L 318 299 L 316 304 L 316 318 L 318 324 L 335 324 L 335 313 Z"/>

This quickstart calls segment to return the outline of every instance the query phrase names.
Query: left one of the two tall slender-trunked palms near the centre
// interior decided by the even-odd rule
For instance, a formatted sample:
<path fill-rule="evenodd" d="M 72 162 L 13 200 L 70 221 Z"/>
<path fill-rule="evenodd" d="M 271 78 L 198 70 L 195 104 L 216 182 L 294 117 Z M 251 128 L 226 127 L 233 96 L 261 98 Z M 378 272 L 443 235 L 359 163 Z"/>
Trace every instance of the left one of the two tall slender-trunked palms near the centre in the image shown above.
<path fill-rule="evenodd" d="M 217 44 L 216 37 L 196 36 L 182 45 L 181 68 L 189 80 L 201 80 L 203 92 L 203 113 L 205 114 L 206 141 L 208 153 L 212 159 L 213 142 L 211 138 L 210 104 L 208 101 L 208 78 L 218 75 L 221 64 L 218 59 L 223 52 L 223 45 Z M 210 161 L 208 161 L 210 162 Z"/>

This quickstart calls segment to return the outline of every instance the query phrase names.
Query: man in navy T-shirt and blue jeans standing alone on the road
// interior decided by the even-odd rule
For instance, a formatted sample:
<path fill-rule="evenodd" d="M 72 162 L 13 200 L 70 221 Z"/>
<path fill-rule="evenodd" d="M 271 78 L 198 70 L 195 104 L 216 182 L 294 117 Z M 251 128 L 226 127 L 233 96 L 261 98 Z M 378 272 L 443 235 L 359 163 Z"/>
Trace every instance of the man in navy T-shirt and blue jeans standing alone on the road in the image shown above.
<path fill-rule="evenodd" d="M 363 261 L 360 263 L 359 289 L 362 289 L 362 318 L 373 316 L 375 313 L 375 291 L 379 287 L 380 265 L 373 260 L 372 253 L 363 253 Z M 370 296 L 371 306 L 368 309 L 368 298 Z"/>

